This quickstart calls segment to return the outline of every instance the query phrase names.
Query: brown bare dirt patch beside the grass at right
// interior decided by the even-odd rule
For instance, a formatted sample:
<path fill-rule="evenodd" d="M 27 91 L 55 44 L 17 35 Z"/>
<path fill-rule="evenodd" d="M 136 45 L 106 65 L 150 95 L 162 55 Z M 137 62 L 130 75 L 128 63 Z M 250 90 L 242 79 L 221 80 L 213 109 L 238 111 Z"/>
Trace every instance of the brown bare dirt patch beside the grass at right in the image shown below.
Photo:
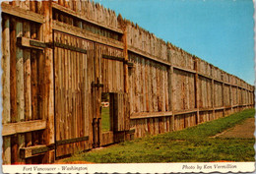
<path fill-rule="evenodd" d="M 223 133 L 215 136 L 218 138 L 241 138 L 241 139 L 254 139 L 254 118 L 248 118 L 241 124 L 224 131 Z"/>

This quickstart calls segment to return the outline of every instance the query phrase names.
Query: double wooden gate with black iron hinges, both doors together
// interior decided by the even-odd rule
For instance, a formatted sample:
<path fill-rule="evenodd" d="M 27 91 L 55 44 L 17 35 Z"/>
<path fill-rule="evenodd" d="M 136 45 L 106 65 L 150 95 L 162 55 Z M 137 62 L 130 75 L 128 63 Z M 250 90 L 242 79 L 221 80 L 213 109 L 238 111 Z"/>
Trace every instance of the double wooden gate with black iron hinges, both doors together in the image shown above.
<path fill-rule="evenodd" d="M 56 30 L 53 37 L 56 157 L 113 144 L 124 131 L 122 50 Z M 101 91 L 115 96 L 108 133 L 101 133 Z"/>

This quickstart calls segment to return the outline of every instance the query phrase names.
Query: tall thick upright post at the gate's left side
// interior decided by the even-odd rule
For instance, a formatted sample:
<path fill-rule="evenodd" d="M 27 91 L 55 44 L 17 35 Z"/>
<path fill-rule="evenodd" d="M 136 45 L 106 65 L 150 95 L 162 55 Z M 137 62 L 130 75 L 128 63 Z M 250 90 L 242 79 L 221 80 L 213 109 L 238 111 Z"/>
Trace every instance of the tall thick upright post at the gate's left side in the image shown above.
<path fill-rule="evenodd" d="M 44 33 L 44 42 L 52 43 L 52 1 L 42 1 L 43 15 L 45 23 L 41 27 Z M 46 130 L 44 131 L 45 144 L 54 144 L 54 86 L 53 86 L 53 53 L 52 48 L 44 49 L 44 95 L 43 98 L 43 119 L 47 120 Z M 54 151 L 48 151 L 42 162 L 49 163 L 54 160 Z"/>

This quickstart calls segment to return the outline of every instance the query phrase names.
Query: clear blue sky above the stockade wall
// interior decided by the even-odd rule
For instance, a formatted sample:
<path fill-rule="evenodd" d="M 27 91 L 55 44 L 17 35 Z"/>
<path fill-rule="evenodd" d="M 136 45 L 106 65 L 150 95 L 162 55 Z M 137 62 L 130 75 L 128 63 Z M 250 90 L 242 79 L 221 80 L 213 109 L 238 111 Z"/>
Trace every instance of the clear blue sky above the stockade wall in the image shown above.
<path fill-rule="evenodd" d="M 95 0 L 165 41 L 254 84 L 252 0 Z"/>

